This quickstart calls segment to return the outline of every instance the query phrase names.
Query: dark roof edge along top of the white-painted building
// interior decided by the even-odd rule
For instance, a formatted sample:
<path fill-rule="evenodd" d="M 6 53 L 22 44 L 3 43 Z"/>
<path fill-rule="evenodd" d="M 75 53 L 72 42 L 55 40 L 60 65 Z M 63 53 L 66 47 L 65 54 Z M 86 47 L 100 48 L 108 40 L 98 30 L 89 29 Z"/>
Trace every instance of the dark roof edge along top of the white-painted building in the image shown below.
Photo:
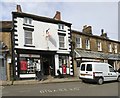
<path fill-rule="evenodd" d="M 49 22 L 49 23 L 61 23 L 61 24 L 65 24 L 67 26 L 71 26 L 71 23 L 68 22 L 64 22 L 61 20 L 55 20 L 54 18 L 48 18 L 48 17 L 43 17 L 43 16 L 38 16 L 38 15 L 33 15 L 33 14 L 28 14 L 28 13 L 20 13 L 20 12 L 12 12 L 12 14 L 14 15 L 14 17 L 29 17 L 32 18 L 34 20 L 38 20 L 38 21 L 43 21 L 43 22 Z"/>

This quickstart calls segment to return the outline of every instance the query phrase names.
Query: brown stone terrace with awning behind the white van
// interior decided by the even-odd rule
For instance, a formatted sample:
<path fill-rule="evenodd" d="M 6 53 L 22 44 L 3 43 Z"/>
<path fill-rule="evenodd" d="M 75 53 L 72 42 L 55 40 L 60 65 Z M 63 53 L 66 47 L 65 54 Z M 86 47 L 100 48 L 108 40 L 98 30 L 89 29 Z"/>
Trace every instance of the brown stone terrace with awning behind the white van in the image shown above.
<path fill-rule="evenodd" d="M 82 32 L 72 30 L 72 42 L 75 75 L 81 62 L 106 62 L 120 68 L 120 42 L 110 40 L 103 29 L 100 36 L 92 34 L 91 26 L 84 26 Z"/>

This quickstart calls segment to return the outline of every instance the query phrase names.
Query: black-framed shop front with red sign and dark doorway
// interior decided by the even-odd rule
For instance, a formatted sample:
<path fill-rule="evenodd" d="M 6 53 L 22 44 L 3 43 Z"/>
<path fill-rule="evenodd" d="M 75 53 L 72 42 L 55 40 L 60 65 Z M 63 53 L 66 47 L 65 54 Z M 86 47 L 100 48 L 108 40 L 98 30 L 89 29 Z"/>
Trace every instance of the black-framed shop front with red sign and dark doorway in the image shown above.
<path fill-rule="evenodd" d="M 35 78 L 36 64 L 40 60 L 41 71 L 44 75 L 55 75 L 54 53 L 48 51 L 17 50 L 14 74 L 18 79 Z"/>

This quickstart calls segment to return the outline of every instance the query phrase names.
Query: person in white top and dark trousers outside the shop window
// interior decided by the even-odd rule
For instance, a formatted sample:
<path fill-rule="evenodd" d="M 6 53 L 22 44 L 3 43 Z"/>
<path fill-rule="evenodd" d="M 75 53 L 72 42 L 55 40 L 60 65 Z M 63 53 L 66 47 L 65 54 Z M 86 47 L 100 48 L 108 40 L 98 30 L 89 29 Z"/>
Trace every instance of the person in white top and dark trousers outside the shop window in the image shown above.
<path fill-rule="evenodd" d="M 42 71 L 40 60 L 36 61 L 36 77 L 38 81 L 42 80 Z"/>

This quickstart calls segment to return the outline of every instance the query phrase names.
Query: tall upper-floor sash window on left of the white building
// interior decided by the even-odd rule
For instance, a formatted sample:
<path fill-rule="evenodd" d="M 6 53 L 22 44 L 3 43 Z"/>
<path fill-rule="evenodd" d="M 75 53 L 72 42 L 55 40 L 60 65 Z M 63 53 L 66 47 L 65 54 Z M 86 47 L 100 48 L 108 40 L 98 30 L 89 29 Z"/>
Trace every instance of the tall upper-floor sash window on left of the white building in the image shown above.
<path fill-rule="evenodd" d="M 32 45 L 32 31 L 25 30 L 25 45 Z"/>

